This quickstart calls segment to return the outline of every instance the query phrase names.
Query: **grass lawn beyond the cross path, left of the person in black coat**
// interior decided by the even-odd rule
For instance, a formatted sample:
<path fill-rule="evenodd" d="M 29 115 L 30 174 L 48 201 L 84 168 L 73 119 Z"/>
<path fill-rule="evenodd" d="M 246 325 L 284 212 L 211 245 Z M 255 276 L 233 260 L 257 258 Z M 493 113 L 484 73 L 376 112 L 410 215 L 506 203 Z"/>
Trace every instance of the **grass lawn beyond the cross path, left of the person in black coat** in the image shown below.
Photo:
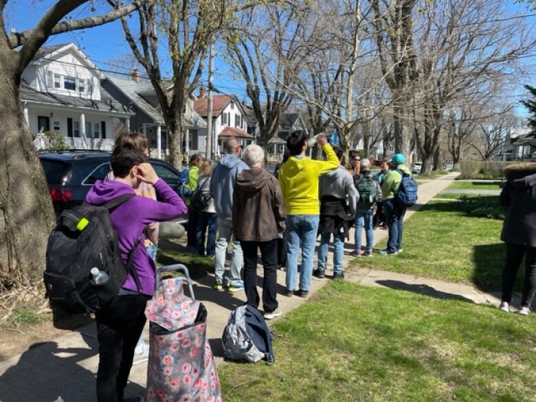
<path fill-rule="evenodd" d="M 451 198 L 456 194 L 447 195 Z M 500 289 L 505 256 L 500 241 L 502 221 L 467 216 L 457 203 L 427 203 L 404 223 L 401 254 L 357 258 L 353 265 L 465 282 L 484 291 Z M 385 248 L 386 243 L 381 241 L 376 248 Z"/>

